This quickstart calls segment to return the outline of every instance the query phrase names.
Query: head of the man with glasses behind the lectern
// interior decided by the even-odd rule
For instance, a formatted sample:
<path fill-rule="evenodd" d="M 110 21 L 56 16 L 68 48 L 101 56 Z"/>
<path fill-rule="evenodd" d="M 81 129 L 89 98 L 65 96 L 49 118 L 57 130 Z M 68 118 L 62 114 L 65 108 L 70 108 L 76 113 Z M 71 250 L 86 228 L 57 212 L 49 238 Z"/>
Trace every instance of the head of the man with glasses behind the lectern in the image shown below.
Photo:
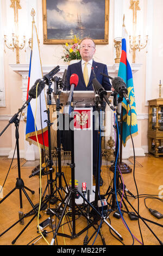
<path fill-rule="evenodd" d="M 96 48 L 91 39 L 85 39 L 82 41 L 82 44 L 80 45 L 80 55 L 82 56 L 83 60 L 88 62 L 93 58 L 95 52 Z"/>

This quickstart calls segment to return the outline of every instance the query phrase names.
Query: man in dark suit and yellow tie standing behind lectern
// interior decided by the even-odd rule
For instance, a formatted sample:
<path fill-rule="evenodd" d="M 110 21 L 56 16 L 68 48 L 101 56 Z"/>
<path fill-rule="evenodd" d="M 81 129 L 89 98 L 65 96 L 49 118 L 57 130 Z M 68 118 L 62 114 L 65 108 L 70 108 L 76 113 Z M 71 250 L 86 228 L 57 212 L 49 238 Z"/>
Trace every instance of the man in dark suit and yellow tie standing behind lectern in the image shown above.
<path fill-rule="evenodd" d="M 100 73 L 108 75 L 107 66 L 102 63 L 95 62 L 93 60 L 93 55 L 96 52 L 95 42 L 91 38 L 85 38 L 80 42 L 80 55 L 82 60 L 78 63 L 74 63 L 68 66 L 67 69 L 67 89 L 70 89 L 70 77 L 72 74 L 77 74 L 79 77 L 79 82 L 74 90 L 91 90 L 93 72 L 92 67 L 95 72 L 96 78 L 99 83 L 102 84 L 105 90 L 111 90 L 111 84 L 109 78 L 102 76 Z M 94 108 L 95 109 L 95 108 Z M 98 131 L 95 130 L 95 120 L 93 120 L 93 175 L 96 179 L 96 169 L 97 169 L 97 157 L 98 157 Z M 102 163 L 102 157 L 101 157 Z M 101 166 L 101 164 L 100 164 Z M 103 179 L 100 176 L 99 185 L 103 185 Z"/>

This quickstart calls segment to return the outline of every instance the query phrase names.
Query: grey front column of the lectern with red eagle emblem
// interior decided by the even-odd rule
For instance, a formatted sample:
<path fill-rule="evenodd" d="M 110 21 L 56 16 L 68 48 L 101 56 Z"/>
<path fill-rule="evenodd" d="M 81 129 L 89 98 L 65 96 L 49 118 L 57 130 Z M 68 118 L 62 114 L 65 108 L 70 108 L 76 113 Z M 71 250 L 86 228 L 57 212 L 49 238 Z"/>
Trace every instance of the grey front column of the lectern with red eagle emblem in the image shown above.
<path fill-rule="evenodd" d="M 75 179 L 78 180 L 78 190 L 80 192 L 82 192 L 82 183 L 86 183 L 86 188 L 90 191 L 91 202 L 95 198 L 95 193 L 93 192 L 92 120 L 93 107 L 74 108 L 74 162 L 76 165 Z"/>

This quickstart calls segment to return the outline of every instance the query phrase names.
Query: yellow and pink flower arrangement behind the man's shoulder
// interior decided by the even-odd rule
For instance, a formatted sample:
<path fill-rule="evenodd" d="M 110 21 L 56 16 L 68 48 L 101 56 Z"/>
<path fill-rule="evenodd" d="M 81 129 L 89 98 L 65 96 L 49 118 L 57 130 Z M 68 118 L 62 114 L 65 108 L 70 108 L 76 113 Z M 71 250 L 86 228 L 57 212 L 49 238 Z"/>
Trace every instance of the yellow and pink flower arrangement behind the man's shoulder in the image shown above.
<path fill-rule="evenodd" d="M 62 59 L 64 59 L 64 62 L 70 62 L 72 59 L 82 59 L 80 56 L 80 39 L 78 36 L 74 35 L 74 38 L 72 40 L 71 44 L 66 44 L 64 47 L 64 56 L 61 56 Z"/>

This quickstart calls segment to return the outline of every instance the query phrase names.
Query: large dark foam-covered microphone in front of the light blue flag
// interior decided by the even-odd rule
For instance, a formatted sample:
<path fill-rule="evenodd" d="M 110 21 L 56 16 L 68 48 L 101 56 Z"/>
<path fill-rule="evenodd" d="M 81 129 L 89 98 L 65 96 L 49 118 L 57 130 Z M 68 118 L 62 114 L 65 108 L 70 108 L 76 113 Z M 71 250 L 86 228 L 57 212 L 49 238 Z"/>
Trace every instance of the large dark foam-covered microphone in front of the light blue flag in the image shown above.
<path fill-rule="evenodd" d="M 118 76 L 112 79 L 112 87 L 121 97 L 124 97 L 126 101 L 130 104 L 129 97 L 127 96 L 128 90 L 126 88 L 126 83 L 124 83 L 121 77 Z"/>

